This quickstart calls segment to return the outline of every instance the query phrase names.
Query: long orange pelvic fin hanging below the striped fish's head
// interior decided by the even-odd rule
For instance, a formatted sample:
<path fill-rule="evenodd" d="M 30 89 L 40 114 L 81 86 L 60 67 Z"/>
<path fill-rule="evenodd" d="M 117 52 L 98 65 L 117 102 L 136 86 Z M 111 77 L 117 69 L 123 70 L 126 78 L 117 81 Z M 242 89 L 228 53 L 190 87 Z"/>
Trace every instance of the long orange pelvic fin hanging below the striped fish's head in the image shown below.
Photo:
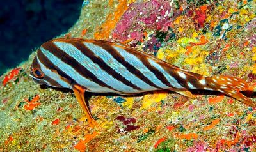
<path fill-rule="evenodd" d="M 92 114 L 90 113 L 90 110 L 86 105 L 85 98 L 84 98 L 84 93 L 86 89 L 84 89 L 84 87 L 82 86 L 79 86 L 78 84 L 72 84 L 72 89 L 77 98 L 77 101 L 80 103 L 81 107 L 83 108 L 86 114 L 89 126 L 92 128 L 97 127 L 99 130 L 102 130 L 102 127 L 95 121 L 95 119 L 93 119 Z"/>

